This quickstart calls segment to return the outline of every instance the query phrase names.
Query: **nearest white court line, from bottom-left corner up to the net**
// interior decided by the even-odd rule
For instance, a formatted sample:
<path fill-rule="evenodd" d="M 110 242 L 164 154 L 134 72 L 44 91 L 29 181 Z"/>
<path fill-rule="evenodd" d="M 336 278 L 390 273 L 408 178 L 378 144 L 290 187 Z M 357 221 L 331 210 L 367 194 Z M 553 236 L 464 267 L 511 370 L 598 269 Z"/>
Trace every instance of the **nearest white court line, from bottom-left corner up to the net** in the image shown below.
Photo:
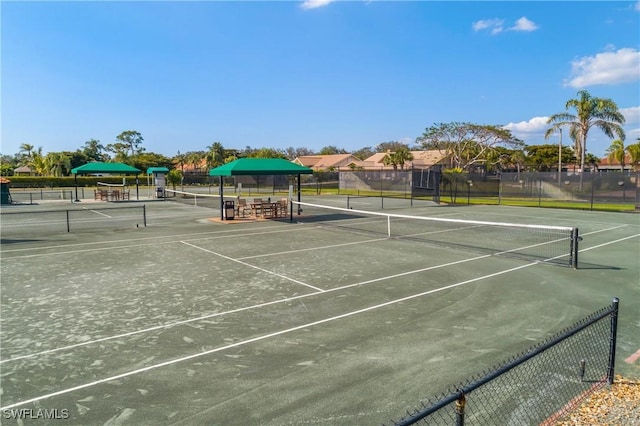
<path fill-rule="evenodd" d="M 215 348 L 215 349 L 210 349 L 208 351 L 203 351 L 203 352 L 199 352 L 199 353 L 196 353 L 196 354 L 187 355 L 187 356 L 184 356 L 184 357 L 181 357 L 181 358 L 176 358 L 176 359 L 172 359 L 172 360 L 169 360 L 169 361 L 161 362 L 161 363 L 158 363 L 158 364 L 149 365 L 147 367 L 143 367 L 143 368 L 140 368 L 140 369 L 137 369 L 137 370 L 128 371 L 126 373 L 118 374 L 118 375 L 111 376 L 111 377 L 106 377 L 106 378 L 100 379 L 100 380 L 95 380 L 93 382 L 85 383 L 83 385 L 74 386 L 74 387 L 63 389 L 63 390 L 60 390 L 60 391 L 57 391 L 57 392 L 52 392 L 52 393 L 49 393 L 49 394 L 46 394 L 46 395 L 41 395 L 41 396 L 38 396 L 38 397 L 35 397 L 35 398 L 31 398 L 31 399 L 27 399 L 27 400 L 24 400 L 24 401 L 16 402 L 14 404 L 10 404 L 10 405 L 4 406 L 4 407 L 0 407 L 0 410 L 8 410 L 8 409 L 11 409 L 11 408 L 19 407 L 21 405 L 29 404 L 29 403 L 36 402 L 36 401 L 41 401 L 43 399 L 52 398 L 54 396 L 64 395 L 64 394 L 67 394 L 67 393 L 70 393 L 70 392 L 75 392 L 75 391 L 80 390 L 80 389 L 85 389 L 85 388 L 96 386 L 96 385 L 100 385 L 100 384 L 103 384 L 103 383 L 108 383 L 108 382 L 111 382 L 113 380 L 122 379 L 122 378 L 133 376 L 133 375 L 136 375 L 136 374 L 144 373 L 144 372 L 147 372 L 147 371 L 150 371 L 150 370 L 155 370 L 157 368 L 166 367 L 166 366 L 169 366 L 169 365 L 177 364 L 179 362 L 188 361 L 190 359 L 198 358 L 198 357 L 201 357 L 201 356 L 210 355 L 210 354 L 213 354 L 213 353 L 216 353 L 216 352 L 221 352 L 221 351 L 224 351 L 224 350 L 227 350 L 227 349 L 236 348 L 236 347 L 239 347 L 239 346 L 248 345 L 250 343 L 259 342 L 261 340 L 266 340 L 266 339 L 269 339 L 271 337 L 281 336 L 283 334 L 288 334 L 288 333 L 291 333 L 291 332 L 294 332 L 294 331 L 298 331 L 298 330 L 302 330 L 302 329 L 305 329 L 305 328 L 314 327 L 316 325 L 325 324 L 325 323 L 336 321 L 336 320 L 340 320 L 340 319 L 343 319 L 343 318 L 348 318 L 348 317 L 351 317 L 351 316 L 354 316 L 354 315 L 358 315 L 358 314 L 362 314 L 362 313 L 365 313 L 365 312 L 373 311 L 373 310 L 380 309 L 380 308 L 383 308 L 383 307 L 386 307 L 386 306 L 390 306 L 390 305 L 394 305 L 394 304 L 397 304 L 397 303 L 406 302 L 407 300 L 416 299 L 418 297 L 426 296 L 426 295 L 429 295 L 429 294 L 432 294 L 432 293 L 437 293 L 437 292 L 440 292 L 440 291 L 449 290 L 449 289 L 460 287 L 460 286 L 463 286 L 463 285 L 466 285 L 466 284 L 470 284 L 470 283 L 473 283 L 473 282 L 476 282 L 476 281 L 484 280 L 486 278 L 492 278 L 492 277 L 495 277 L 495 276 L 498 276 L 498 275 L 503 275 L 503 274 L 506 274 L 506 273 L 509 273 L 509 272 L 517 271 L 519 269 L 528 268 L 528 267 L 533 266 L 533 265 L 537 265 L 537 263 L 528 263 L 526 265 L 517 266 L 515 268 L 506 269 L 504 271 L 496 272 L 496 273 L 489 274 L 489 275 L 484 275 L 482 277 L 472 278 L 470 280 L 461 281 L 461 282 L 455 283 L 455 284 L 450 284 L 450 285 L 445 286 L 445 287 L 440 287 L 440 288 L 437 288 L 437 289 L 425 291 L 425 292 L 414 294 L 414 295 L 411 295 L 411 296 L 402 297 L 400 299 L 391 300 L 389 302 L 381 303 L 381 304 L 378 304 L 378 305 L 369 306 L 368 308 L 358 309 L 356 311 L 347 312 L 347 313 L 344 313 L 344 314 L 341 314 L 341 315 L 336 315 L 334 317 L 325 318 L 325 319 L 322 319 L 322 320 L 313 321 L 313 322 L 310 322 L 310 323 L 306 323 L 306 324 L 299 325 L 299 326 L 296 326 L 296 327 L 288 328 L 288 329 L 285 329 L 285 330 L 280 330 L 280 331 L 276 331 L 276 332 L 273 332 L 273 333 L 264 334 L 262 336 L 253 337 L 251 339 L 242 340 L 240 342 L 232 343 L 232 344 L 226 345 L 226 346 L 221 346 L 221 347 Z"/>

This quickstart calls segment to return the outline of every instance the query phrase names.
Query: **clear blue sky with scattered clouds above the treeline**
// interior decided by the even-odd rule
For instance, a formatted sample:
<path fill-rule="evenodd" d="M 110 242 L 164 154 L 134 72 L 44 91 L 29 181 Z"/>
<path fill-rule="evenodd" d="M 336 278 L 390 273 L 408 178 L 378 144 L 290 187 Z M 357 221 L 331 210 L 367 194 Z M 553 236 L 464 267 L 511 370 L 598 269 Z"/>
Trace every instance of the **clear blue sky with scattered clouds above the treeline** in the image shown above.
<path fill-rule="evenodd" d="M 640 137 L 638 1 L 0 7 L 2 154 L 106 145 L 124 130 L 167 156 L 214 141 L 355 151 L 454 121 L 535 145 L 581 89 L 618 104 L 627 144 Z M 609 144 L 593 131 L 587 150 Z"/>

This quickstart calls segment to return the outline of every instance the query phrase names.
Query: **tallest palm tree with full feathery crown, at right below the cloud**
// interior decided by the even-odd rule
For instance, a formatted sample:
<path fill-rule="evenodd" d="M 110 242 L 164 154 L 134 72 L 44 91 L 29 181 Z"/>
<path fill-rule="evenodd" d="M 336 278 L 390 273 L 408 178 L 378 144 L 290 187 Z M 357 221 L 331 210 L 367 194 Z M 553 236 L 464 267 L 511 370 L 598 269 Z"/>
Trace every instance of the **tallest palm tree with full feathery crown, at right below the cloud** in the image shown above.
<path fill-rule="evenodd" d="M 580 171 L 584 172 L 587 135 L 593 126 L 598 127 L 611 139 L 617 135 L 624 140 L 625 133 L 622 125 L 625 123 L 625 118 L 618 110 L 618 105 L 611 99 L 593 97 L 586 90 L 580 90 L 577 99 L 567 101 L 565 109 L 567 111 L 575 109 L 576 113 L 553 114 L 547 120 L 547 124 L 552 124 L 556 128 L 565 125 L 569 127 L 569 136 L 576 142 L 576 155 L 580 156 Z M 583 173 L 580 174 L 581 184 L 582 175 Z"/>

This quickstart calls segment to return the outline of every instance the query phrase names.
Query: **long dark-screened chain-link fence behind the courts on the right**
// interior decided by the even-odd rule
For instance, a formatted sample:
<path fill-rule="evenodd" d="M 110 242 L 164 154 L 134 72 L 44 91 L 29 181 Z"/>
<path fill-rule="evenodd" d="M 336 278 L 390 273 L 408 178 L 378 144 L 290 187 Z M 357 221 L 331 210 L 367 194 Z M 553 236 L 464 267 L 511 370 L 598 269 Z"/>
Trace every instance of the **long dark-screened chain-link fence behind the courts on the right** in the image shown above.
<path fill-rule="evenodd" d="M 313 175 L 318 187 L 326 183 Z M 340 171 L 338 194 L 430 198 L 447 204 L 559 206 L 593 210 L 627 205 L 640 209 L 640 172 L 576 173 L 412 170 Z"/>

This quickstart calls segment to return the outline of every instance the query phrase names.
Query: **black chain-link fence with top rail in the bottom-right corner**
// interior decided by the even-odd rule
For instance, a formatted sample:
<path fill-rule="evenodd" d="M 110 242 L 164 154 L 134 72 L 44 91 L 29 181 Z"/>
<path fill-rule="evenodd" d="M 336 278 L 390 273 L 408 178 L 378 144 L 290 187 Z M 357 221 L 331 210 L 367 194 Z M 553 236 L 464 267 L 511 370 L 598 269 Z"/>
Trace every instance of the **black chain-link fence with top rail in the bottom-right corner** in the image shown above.
<path fill-rule="evenodd" d="M 553 425 L 613 383 L 618 298 L 500 366 L 450 389 L 394 425 Z"/>

